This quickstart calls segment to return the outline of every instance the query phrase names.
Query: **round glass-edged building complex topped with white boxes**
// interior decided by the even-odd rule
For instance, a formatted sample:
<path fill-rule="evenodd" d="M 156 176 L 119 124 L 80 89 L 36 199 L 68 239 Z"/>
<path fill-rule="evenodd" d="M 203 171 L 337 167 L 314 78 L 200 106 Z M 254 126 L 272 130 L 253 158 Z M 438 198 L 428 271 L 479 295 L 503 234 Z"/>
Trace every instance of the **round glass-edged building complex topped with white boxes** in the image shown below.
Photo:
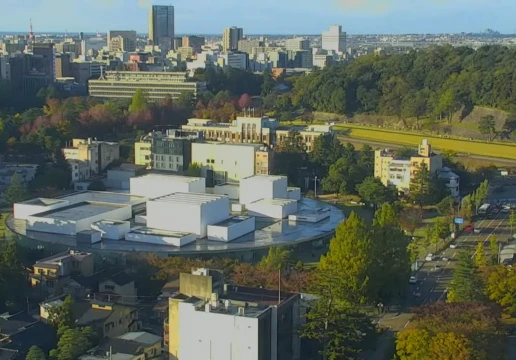
<path fill-rule="evenodd" d="M 17 203 L 7 224 L 29 246 L 169 255 L 223 252 L 254 259 L 270 246 L 322 246 L 344 219 L 329 204 L 303 199 L 285 176 L 251 175 L 214 187 L 205 181 L 165 173 L 130 177 L 120 181 L 130 184 L 129 193 L 82 191 Z"/>

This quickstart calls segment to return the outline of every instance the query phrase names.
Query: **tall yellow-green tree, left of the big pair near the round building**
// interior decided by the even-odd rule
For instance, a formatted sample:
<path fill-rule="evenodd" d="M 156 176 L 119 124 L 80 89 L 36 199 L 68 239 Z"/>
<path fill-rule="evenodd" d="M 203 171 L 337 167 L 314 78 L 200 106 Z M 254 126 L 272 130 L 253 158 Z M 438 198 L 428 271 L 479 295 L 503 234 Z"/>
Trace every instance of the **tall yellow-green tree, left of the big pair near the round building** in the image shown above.
<path fill-rule="evenodd" d="M 354 212 L 339 224 L 330 249 L 321 256 L 316 285 L 331 283 L 335 303 L 358 305 L 367 301 L 373 271 L 373 242 L 369 226 Z M 318 289 L 317 294 L 328 291 Z"/>

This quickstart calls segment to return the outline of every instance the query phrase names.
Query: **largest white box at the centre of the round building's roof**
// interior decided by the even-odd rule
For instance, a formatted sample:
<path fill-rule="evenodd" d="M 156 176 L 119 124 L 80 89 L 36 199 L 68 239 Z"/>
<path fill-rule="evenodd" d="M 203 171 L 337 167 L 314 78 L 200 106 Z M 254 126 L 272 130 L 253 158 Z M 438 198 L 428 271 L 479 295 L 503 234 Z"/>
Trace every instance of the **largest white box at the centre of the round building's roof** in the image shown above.
<path fill-rule="evenodd" d="M 147 226 L 203 238 L 208 225 L 229 218 L 229 208 L 226 196 L 174 193 L 147 201 Z"/>

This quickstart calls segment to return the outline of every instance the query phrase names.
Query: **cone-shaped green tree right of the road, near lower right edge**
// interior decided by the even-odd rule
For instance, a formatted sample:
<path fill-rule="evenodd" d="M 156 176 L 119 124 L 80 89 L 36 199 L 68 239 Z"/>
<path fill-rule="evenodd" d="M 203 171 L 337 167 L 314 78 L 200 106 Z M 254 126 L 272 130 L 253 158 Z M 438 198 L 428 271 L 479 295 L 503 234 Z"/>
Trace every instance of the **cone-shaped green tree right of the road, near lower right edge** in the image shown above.
<path fill-rule="evenodd" d="M 457 265 L 453 272 L 448 301 L 466 302 L 483 299 L 483 283 L 478 267 L 471 253 L 462 251 L 459 253 Z"/>

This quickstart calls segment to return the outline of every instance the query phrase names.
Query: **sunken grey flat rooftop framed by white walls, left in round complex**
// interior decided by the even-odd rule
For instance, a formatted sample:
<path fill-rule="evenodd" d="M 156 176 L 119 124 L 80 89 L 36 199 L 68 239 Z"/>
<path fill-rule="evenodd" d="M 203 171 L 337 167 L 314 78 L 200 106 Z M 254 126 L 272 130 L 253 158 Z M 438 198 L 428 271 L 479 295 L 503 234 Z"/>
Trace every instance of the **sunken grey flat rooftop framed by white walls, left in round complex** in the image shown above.
<path fill-rule="evenodd" d="M 63 221 L 78 221 L 93 216 L 102 215 L 123 207 L 123 205 L 95 202 L 79 202 L 57 209 L 32 215 L 33 217 L 49 218 Z"/>

